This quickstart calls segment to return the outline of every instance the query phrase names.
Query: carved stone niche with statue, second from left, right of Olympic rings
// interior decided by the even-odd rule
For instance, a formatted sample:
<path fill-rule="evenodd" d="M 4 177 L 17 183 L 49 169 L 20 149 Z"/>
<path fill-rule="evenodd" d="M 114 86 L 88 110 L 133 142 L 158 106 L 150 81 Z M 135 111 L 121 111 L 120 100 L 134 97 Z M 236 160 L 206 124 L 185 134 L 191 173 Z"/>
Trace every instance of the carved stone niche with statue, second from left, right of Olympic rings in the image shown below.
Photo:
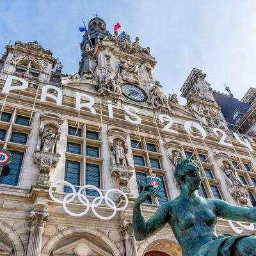
<path fill-rule="evenodd" d="M 133 168 L 127 157 L 127 133 L 120 129 L 109 129 L 108 140 L 111 154 L 111 176 L 117 180 L 119 189 L 130 195 L 129 180 L 133 175 Z"/>

